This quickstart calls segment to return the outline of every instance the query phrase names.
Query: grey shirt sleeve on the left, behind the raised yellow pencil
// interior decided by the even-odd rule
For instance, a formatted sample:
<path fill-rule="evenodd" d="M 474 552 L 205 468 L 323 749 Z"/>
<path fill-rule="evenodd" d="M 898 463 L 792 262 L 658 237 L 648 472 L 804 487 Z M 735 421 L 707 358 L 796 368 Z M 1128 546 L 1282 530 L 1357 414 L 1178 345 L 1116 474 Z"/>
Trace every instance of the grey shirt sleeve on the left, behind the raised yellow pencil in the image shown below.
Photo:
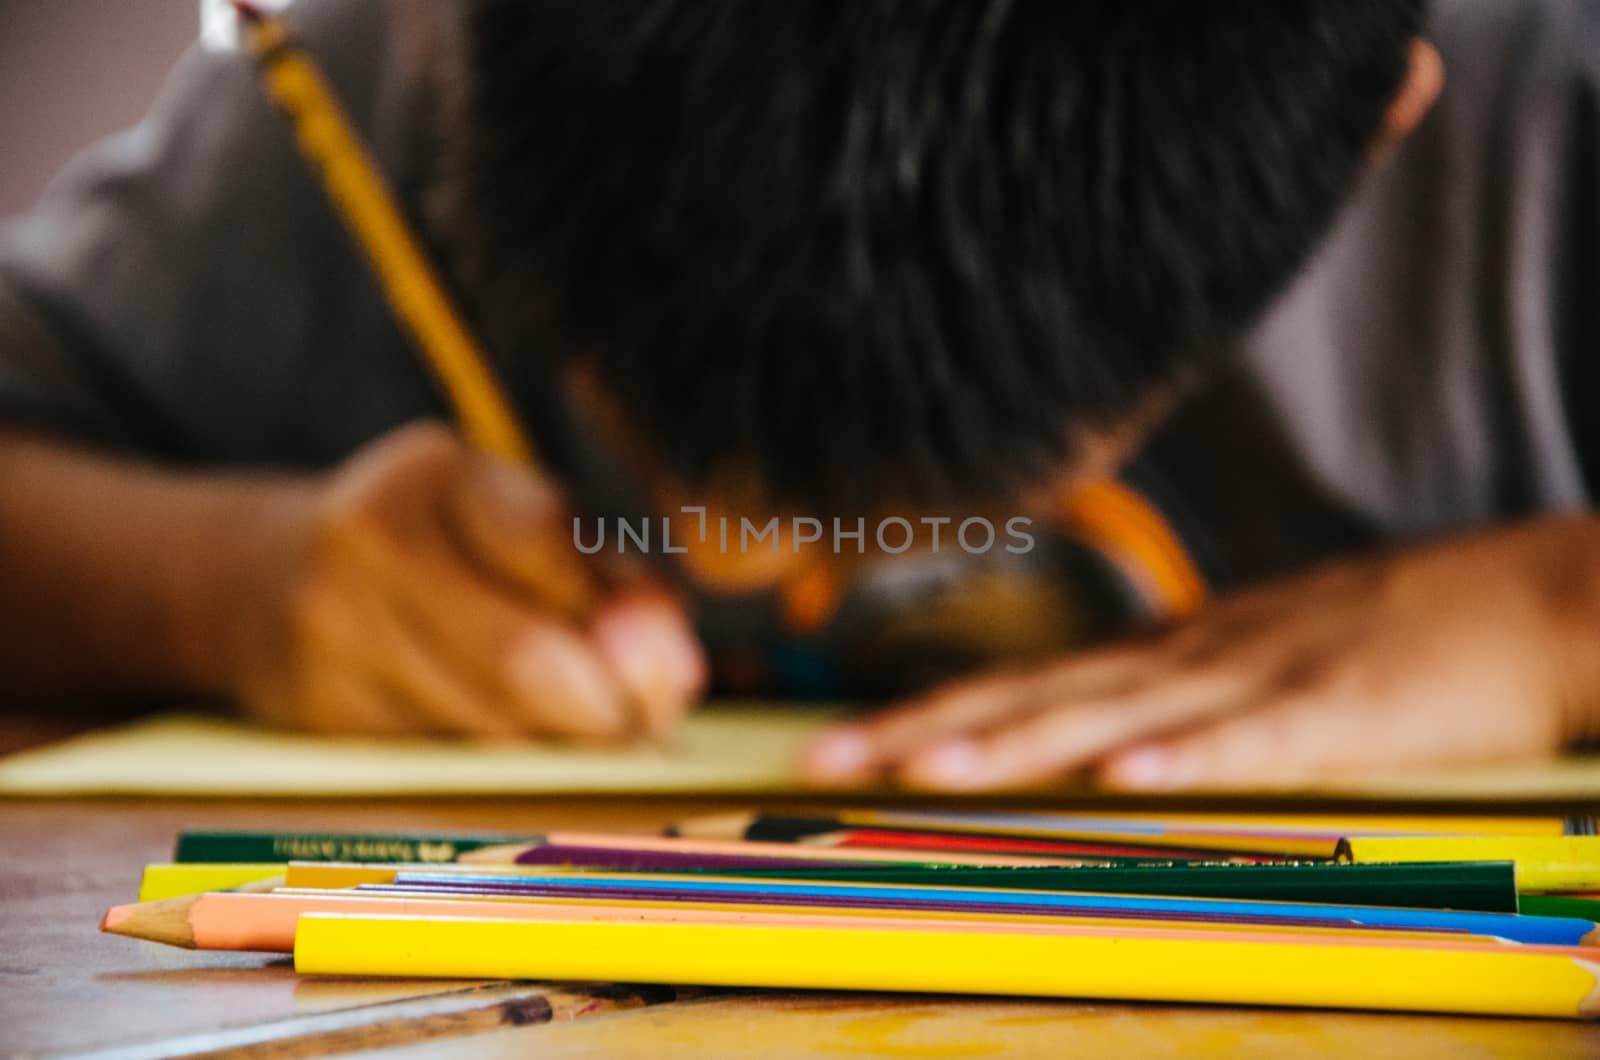
<path fill-rule="evenodd" d="M 402 194 L 411 72 L 382 0 L 291 8 Z M 437 415 L 254 64 L 194 48 L 133 130 L 0 226 L 0 418 L 187 464 L 322 466 Z"/>

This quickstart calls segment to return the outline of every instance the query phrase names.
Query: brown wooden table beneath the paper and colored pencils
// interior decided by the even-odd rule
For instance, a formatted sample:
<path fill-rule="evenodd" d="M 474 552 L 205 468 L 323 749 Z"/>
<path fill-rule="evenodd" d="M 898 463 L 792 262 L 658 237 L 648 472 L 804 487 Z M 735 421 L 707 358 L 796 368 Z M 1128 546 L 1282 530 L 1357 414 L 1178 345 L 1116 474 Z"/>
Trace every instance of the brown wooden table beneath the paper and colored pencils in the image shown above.
<path fill-rule="evenodd" d="M 0 740 L 0 746 L 3 746 Z M 3 801 L 0 1057 L 1600 1055 L 1600 1025 L 1203 1006 L 298 978 L 288 961 L 101 935 L 182 828 L 658 831 L 669 799 Z M 746 809 L 746 807 L 738 807 Z"/>

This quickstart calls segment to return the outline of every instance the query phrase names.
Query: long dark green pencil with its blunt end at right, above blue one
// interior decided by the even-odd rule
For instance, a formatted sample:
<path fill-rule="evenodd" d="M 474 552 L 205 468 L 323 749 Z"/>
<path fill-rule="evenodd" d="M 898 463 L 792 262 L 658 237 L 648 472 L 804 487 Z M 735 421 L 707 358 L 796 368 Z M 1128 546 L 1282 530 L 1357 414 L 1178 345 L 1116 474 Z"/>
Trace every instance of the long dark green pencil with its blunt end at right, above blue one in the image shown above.
<path fill-rule="evenodd" d="M 1304 863 L 1139 863 L 1134 866 L 1010 866 L 962 865 L 736 865 L 698 869 L 693 861 L 642 858 L 642 871 L 746 877 L 826 879 L 840 882 L 931 884 L 1022 890 L 1099 890 L 1136 895 L 1200 898 L 1282 898 L 1349 905 L 1405 905 L 1488 913 L 1515 913 L 1517 885 L 1510 861 L 1448 861 L 1403 865 Z"/>

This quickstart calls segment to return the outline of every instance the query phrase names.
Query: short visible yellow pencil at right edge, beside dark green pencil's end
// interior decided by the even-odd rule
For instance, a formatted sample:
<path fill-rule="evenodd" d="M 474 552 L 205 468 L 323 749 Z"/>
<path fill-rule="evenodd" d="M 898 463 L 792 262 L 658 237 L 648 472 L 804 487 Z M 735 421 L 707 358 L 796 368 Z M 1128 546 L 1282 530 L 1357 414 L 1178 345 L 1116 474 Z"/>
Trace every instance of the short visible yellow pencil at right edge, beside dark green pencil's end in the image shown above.
<path fill-rule="evenodd" d="M 1515 861 L 1517 890 L 1600 890 L 1600 836 L 1352 836 L 1341 861 Z"/>

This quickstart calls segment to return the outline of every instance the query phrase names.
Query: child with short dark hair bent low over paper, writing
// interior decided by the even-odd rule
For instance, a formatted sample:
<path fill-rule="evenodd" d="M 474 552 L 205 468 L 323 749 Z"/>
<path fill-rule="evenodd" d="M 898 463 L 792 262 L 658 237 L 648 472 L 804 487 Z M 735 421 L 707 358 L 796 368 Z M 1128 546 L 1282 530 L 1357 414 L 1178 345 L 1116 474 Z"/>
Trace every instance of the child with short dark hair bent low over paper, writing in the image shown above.
<path fill-rule="evenodd" d="M 1240 363 L 1232 347 L 1440 88 L 1411 0 L 318 0 L 291 18 L 494 351 L 542 474 L 422 423 L 446 410 L 251 64 L 190 56 L 139 130 L 0 242 L 13 689 L 221 693 L 328 732 L 667 729 L 707 677 L 685 600 L 792 581 L 803 520 L 1011 527 L 1109 477 L 1197 379 Z M 1570 157 L 1538 157 L 1576 167 L 1560 205 L 1592 218 L 1594 82 L 1574 62 L 1594 27 L 1560 24 L 1587 16 L 1474 18 L 1472 69 L 1522 94 L 1469 99 L 1466 131 L 1504 149 L 1507 106 L 1566 130 Z M 1379 224 L 1434 203 L 1410 165 L 1363 200 Z M 1557 269 L 1549 290 L 1592 261 L 1538 210 L 1528 232 L 1512 224 L 1528 215 L 1496 216 L 1509 235 L 1490 250 Z M 1397 256 L 1445 245 L 1397 235 Z M 1333 487 L 1346 437 L 1395 426 L 1355 418 L 1373 383 L 1341 378 L 1347 343 L 1414 354 L 1350 360 L 1416 400 L 1448 389 L 1429 359 L 1462 338 L 1430 346 L 1432 317 L 1386 301 L 1413 291 L 1362 288 L 1384 274 L 1347 243 L 1341 227 L 1344 256 L 1306 277 L 1323 285 L 1296 288 L 1243 362 Z M 1494 272 L 1451 261 L 1414 267 L 1493 303 Z M 1586 496 L 1594 448 L 1546 399 L 1568 370 L 1557 339 L 1594 335 L 1594 309 L 1563 306 L 1552 333 L 1546 304 L 1504 304 L 1493 349 L 1461 368 L 1478 389 L 1430 399 L 1427 423 L 1482 426 L 1488 450 L 1504 418 L 1474 399 L 1510 378 L 1514 407 L 1547 416 L 1530 445 L 1565 463 L 1541 479 L 1517 463 L 1531 450 L 1461 460 L 1438 496 L 1483 468 L 1526 488 L 1429 522 L 1426 503 L 1403 509 L 1437 468 L 1358 447 L 1394 487 L 1395 536 Z M 1362 314 L 1330 323 L 1325 306 Z M 1410 479 L 1384 477 L 1390 450 Z M 592 512 L 666 517 L 688 551 L 589 557 L 573 516 Z M 710 548 L 718 516 L 776 516 L 782 548 Z M 947 685 L 834 733 L 808 769 L 981 788 L 1096 767 L 1165 788 L 1547 751 L 1600 714 L 1595 541 L 1586 517 L 1528 522 L 1301 575 L 1139 642 Z"/>

